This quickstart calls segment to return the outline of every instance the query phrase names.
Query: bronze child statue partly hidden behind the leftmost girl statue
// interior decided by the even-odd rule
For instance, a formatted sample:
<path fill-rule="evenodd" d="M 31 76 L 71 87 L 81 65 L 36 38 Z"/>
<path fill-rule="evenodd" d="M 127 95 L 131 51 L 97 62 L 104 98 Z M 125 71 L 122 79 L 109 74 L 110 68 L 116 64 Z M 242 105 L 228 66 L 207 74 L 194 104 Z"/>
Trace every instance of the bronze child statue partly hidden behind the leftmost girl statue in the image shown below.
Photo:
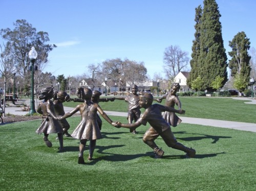
<path fill-rule="evenodd" d="M 71 101 L 69 94 L 66 91 L 55 91 L 53 96 L 53 104 L 54 104 L 54 111 L 56 116 L 64 115 L 65 111 L 63 108 L 63 102 Z M 68 133 L 68 130 L 70 128 L 70 125 L 66 119 L 63 119 L 59 121 L 62 129 L 63 129 L 63 135 L 66 137 L 71 137 L 71 135 Z"/>

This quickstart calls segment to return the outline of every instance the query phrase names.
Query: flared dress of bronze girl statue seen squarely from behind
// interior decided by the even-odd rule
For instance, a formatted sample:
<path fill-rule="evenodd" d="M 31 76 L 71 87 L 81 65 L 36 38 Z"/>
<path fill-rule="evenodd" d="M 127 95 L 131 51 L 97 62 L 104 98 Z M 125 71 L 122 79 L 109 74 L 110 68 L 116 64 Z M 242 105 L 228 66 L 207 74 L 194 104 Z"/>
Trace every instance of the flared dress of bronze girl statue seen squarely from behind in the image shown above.
<path fill-rule="evenodd" d="M 98 104 L 92 103 L 90 105 L 87 105 L 86 103 L 83 103 L 82 105 L 84 107 L 82 111 L 80 110 L 81 122 L 76 127 L 71 136 L 76 139 L 101 139 L 102 135 L 100 133 L 100 129 L 97 123 Z"/>

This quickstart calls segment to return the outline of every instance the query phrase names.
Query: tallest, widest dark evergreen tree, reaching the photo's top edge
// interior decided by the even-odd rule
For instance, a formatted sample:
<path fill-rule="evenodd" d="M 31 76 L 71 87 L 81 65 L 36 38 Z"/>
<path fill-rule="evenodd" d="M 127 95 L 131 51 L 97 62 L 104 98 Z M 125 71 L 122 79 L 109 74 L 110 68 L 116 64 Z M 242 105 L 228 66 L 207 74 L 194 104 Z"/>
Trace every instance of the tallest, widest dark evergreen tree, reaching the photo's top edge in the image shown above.
<path fill-rule="evenodd" d="M 225 53 L 221 14 L 215 0 L 204 0 L 200 27 L 199 75 L 204 78 L 203 89 L 212 90 L 211 83 L 217 76 L 223 77 L 222 86 L 227 82 L 227 55 Z"/>

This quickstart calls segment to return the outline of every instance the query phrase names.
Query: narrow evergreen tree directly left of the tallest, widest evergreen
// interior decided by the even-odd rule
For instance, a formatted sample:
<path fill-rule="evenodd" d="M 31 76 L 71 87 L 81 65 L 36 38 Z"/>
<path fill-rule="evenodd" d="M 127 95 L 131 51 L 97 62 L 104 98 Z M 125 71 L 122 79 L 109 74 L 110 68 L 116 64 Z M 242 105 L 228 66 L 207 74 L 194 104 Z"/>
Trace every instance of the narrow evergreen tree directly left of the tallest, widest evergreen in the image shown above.
<path fill-rule="evenodd" d="M 190 74 L 187 79 L 187 85 L 191 87 L 191 81 L 195 80 L 198 77 L 198 57 L 200 54 L 200 26 L 201 26 L 201 17 L 202 17 L 202 7 L 201 5 L 196 8 L 196 16 L 195 16 L 195 29 L 196 32 L 194 34 L 195 40 L 193 40 L 192 46 L 192 54 L 190 60 Z"/>

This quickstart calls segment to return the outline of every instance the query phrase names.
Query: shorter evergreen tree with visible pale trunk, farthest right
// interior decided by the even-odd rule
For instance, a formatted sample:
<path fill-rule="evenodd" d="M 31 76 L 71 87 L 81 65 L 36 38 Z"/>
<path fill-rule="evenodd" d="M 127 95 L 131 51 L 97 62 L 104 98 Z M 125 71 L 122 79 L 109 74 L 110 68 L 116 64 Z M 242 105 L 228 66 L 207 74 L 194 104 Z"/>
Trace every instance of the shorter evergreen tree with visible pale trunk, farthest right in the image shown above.
<path fill-rule="evenodd" d="M 239 32 L 234 36 L 232 41 L 229 41 L 229 46 L 232 48 L 231 52 L 228 52 L 231 60 L 229 60 L 229 68 L 231 69 L 231 76 L 236 74 L 241 75 L 249 82 L 250 79 L 250 59 L 248 54 L 250 49 L 250 39 L 246 37 L 244 32 Z"/>

